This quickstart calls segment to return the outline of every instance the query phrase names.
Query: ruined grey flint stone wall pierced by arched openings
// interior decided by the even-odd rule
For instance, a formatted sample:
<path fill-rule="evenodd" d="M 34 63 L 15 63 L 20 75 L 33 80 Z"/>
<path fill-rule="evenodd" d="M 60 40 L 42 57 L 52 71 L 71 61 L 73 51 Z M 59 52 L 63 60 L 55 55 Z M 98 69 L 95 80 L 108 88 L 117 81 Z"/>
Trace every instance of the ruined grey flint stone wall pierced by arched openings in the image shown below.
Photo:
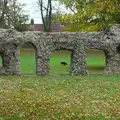
<path fill-rule="evenodd" d="M 105 74 L 120 74 L 120 26 L 113 25 L 102 32 L 17 32 L 0 29 L 0 74 L 20 74 L 20 48 L 30 42 L 36 49 L 36 74 L 49 74 L 49 61 L 55 50 L 69 50 L 70 74 L 88 75 L 86 53 L 94 48 L 105 53 Z"/>

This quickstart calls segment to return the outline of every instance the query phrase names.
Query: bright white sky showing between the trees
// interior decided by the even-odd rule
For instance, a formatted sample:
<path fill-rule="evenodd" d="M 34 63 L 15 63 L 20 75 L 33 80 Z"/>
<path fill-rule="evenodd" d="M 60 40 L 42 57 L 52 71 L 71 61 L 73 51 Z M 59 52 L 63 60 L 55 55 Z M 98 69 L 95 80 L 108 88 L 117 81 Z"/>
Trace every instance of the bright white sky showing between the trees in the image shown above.
<path fill-rule="evenodd" d="M 26 7 L 25 10 L 28 11 L 30 19 L 34 18 L 34 22 L 37 23 L 42 23 L 41 20 L 41 14 L 40 14 L 40 10 L 38 7 L 38 0 L 18 0 L 20 3 L 25 3 Z M 62 11 L 66 11 L 65 7 L 58 5 L 57 3 L 54 3 L 55 6 L 59 6 L 59 9 L 61 9 Z M 53 5 L 53 6 L 54 6 Z"/>

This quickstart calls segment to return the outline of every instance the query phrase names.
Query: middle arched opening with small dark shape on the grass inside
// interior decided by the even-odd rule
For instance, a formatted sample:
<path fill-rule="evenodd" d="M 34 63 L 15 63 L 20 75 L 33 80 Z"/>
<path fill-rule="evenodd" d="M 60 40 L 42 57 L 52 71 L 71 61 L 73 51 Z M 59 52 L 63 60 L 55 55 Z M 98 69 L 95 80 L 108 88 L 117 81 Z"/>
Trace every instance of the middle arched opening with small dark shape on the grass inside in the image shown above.
<path fill-rule="evenodd" d="M 71 51 L 56 50 L 50 59 L 50 74 L 69 74 L 71 65 Z"/>

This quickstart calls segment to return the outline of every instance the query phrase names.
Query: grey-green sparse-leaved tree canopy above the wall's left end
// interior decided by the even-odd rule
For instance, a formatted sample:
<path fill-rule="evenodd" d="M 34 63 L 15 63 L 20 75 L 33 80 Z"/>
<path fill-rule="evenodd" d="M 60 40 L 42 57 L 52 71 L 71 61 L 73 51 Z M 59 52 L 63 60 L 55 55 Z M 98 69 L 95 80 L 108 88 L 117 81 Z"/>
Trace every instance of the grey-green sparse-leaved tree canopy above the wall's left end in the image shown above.
<path fill-rule="evenodd" d="M 0 16 L 0 27 L 11 28 L 14 27 L 18 31 L 27 30 L 28 14 L 24 10 L 25 5 L 20 4 L 17 0 L 4 0 Z M 3 1 L 3 3 L 4 3 Z"/>

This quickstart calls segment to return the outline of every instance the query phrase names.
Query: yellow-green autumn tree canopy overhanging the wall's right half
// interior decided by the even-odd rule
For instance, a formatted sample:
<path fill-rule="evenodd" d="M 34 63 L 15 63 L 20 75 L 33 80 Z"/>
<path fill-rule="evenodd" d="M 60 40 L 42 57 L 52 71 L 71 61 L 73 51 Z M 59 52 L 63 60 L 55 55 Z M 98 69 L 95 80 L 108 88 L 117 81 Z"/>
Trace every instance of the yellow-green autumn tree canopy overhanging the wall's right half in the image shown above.
<path fill-rule="evenodd" d="M 68 31 L 100 31 L 120 23 L 120 0 L 58 0 L 71 14 L 59 17 Z"/>

